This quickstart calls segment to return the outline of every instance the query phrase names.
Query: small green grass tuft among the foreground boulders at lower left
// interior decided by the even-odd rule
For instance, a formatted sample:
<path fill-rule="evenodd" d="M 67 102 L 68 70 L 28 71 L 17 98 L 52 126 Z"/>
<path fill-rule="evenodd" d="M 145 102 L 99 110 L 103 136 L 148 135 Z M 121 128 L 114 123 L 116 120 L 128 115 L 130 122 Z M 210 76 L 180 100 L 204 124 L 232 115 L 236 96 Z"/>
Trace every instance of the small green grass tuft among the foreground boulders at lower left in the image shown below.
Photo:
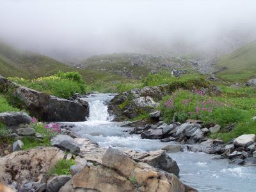
<path fill-rule="evenodd" d="M 70 166 L 76 164 L 73 159 L 67 160 L 67 159 L 61 159 L 58 161 L 56 166 L 54 166 L 49 173 L 47 174 L 48 176 L 51 176 L 53 174 L 57 175 L 70 175 Z"/>

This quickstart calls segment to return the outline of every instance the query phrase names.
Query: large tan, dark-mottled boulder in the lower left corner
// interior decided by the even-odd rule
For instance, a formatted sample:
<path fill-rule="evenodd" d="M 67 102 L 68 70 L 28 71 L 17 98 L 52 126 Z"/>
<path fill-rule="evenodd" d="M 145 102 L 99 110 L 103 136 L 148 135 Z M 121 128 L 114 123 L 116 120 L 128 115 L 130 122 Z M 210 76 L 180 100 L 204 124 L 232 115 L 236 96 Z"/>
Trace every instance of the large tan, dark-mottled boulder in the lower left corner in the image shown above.
<path fill-rule="evenodd" d="M 0 158 L 0 183 L 12 184 L 31 180 L 48 172 L 63 159 L 64 152 L 56 147 L 20 150 Z"/>

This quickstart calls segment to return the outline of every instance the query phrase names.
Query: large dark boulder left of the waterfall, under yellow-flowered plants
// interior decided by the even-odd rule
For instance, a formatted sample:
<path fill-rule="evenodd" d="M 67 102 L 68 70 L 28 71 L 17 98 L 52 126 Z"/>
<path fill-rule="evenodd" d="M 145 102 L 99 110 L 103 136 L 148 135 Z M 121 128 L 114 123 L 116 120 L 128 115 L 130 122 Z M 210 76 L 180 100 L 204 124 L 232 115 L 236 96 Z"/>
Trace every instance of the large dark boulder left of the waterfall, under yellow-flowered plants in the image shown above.
<path fill-rule="evenodd" d="M 37 92 L 24 86 L 17 88 L 17 92 L 20 99 L 24 101 L 26 109 L 36 118 L 47 122 L 79 122 L 85 120 L 88 109 L 76 102 Z"/>

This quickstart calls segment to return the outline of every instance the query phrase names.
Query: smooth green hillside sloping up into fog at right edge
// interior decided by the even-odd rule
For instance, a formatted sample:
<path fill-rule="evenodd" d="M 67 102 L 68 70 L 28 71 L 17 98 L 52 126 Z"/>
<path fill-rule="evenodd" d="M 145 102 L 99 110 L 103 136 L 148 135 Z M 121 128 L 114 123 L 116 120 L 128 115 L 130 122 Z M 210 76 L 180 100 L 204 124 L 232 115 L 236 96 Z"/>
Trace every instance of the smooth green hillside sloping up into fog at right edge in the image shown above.
<path fill-rule="evenodd" d="M 255 77 L 256 41 L 219 58 L 216 70 L 223 67 L 227 67 L 227 70 L 216 74 L 216 76 L 226 81 L 246 81 Z"/>

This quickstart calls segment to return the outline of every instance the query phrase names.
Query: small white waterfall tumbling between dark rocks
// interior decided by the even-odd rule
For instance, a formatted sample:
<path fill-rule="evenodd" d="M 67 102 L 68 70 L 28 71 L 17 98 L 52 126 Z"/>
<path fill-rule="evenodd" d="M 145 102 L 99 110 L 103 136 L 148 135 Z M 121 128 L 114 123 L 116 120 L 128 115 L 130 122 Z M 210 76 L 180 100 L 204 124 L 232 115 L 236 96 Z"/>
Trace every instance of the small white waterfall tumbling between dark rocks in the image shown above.
<path fill-rule="evenodd" d="M 100 94 L 99 96 L 93 95 L 93 97 L 90 97 L 90 99 L 88 99 L 90 113 L 87 120 L 90 122 L 93 122 L 93 121 L 109 122 L 113 120 L 114 117 L 112 115 L 109 115 L 108 105 L 106 104 L 106 102 L 108 102 L 113 97 L 109 95 L 103 95 L 103 94 Z"/>

